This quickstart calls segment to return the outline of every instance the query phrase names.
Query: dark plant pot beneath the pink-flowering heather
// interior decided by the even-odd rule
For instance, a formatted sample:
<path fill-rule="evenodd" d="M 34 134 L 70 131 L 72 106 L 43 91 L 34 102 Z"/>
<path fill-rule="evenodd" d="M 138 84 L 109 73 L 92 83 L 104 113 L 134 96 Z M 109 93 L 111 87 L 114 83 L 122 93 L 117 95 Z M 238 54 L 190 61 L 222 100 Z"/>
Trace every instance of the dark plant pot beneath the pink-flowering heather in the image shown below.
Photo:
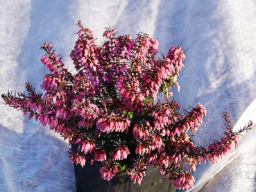
<path fill-rule="evenodd" d="M 100 165 L 97 162 L 91 166 L 89 158 L 82 168 L 80 164 L 74 164 L 76 175 L 76 190 L 78 192 L 156 192 L 156 191 L 176 191 L 170 186 L 167 180 L 160 176 L 159 171 L 153 166 L 146 171 L 146 176 L 142 180 L 142 184 L 133 184 L 125 173 L 116 175 L 109 182 L 101 179 L 99 173 Z"/>

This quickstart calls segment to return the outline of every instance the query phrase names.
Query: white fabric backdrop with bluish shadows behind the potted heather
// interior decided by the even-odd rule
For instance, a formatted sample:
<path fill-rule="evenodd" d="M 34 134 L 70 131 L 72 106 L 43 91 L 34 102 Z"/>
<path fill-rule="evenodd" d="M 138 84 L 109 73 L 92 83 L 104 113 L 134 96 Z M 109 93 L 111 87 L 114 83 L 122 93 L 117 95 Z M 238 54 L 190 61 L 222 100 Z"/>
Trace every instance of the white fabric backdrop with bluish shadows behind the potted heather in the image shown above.
<path fill-rule="evenodd" d="M 160 53 L 180 45 L 187 56 L 178 77 L 182 108 L 202 103 L 207 117 L 196 134 L 198 145 L 224 132 L 221 112 L 236 128 L 256 120 L 256 3 L 246 1 L 31 1 L 0 0 L 0 93 L 39 87 L 48 72 L 39 48 L 51 42 L 73 69 L 69 53 L 76 41 L 76 21 L 92 28 L 99 44 L 105 27 L 120 33 L 148 33 Z M 0 191 L 75 191 L 68 145 L 57 134 L 0 104 Z M 256 121 L 255 121 L 256 122 Z M 191 191 L 256 191 L 256 129 L 236 152 L 194 174 Z"/>

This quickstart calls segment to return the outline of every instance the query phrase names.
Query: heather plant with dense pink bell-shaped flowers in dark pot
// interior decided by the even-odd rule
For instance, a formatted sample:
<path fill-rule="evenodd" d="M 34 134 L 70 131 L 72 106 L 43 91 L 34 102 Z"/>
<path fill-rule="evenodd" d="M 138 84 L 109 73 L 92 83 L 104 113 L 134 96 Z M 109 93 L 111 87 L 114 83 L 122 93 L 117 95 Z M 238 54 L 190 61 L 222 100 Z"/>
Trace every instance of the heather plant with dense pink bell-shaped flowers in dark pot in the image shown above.
<path fill-rule="evenodd" d="M 172 46 L 168 55 L 156 60 L 159 43 L 147 34 L 117 37 L 107 28 L 104 44 L 96 44 L 92 30 L 78 21 L 78 40 L 71 51 L 77 69 L 72 74 L 65 68 L 53 46 L 44 43 L 41 62 L 49 68 L 42 82 L 44 94 L 36 94 L 26 83 L 27 94 L 3 94 L 7 105 L 28 114 L 51 130 L 69 139 L 72 162 L 84 166 L 89 156 L 101 164 L 104 180 L 127 173 L 130 180 L 141 184 L 149 165 L 160 169 L 160 175 L 178 189 L 193 186 L 191 171 L 202 162 L 216 163 L 234 149 L 241 132 L 234 132 L 227 113 L 224 136 L 209 146 L 195 146 L 191 137 L 206 115 L 197 104 L 181 112 L 172 95 L 179 90 L 177 76 L 185 60 L 180 46 Z M 164 101 L 156 102 L 157 94 Z"/>

